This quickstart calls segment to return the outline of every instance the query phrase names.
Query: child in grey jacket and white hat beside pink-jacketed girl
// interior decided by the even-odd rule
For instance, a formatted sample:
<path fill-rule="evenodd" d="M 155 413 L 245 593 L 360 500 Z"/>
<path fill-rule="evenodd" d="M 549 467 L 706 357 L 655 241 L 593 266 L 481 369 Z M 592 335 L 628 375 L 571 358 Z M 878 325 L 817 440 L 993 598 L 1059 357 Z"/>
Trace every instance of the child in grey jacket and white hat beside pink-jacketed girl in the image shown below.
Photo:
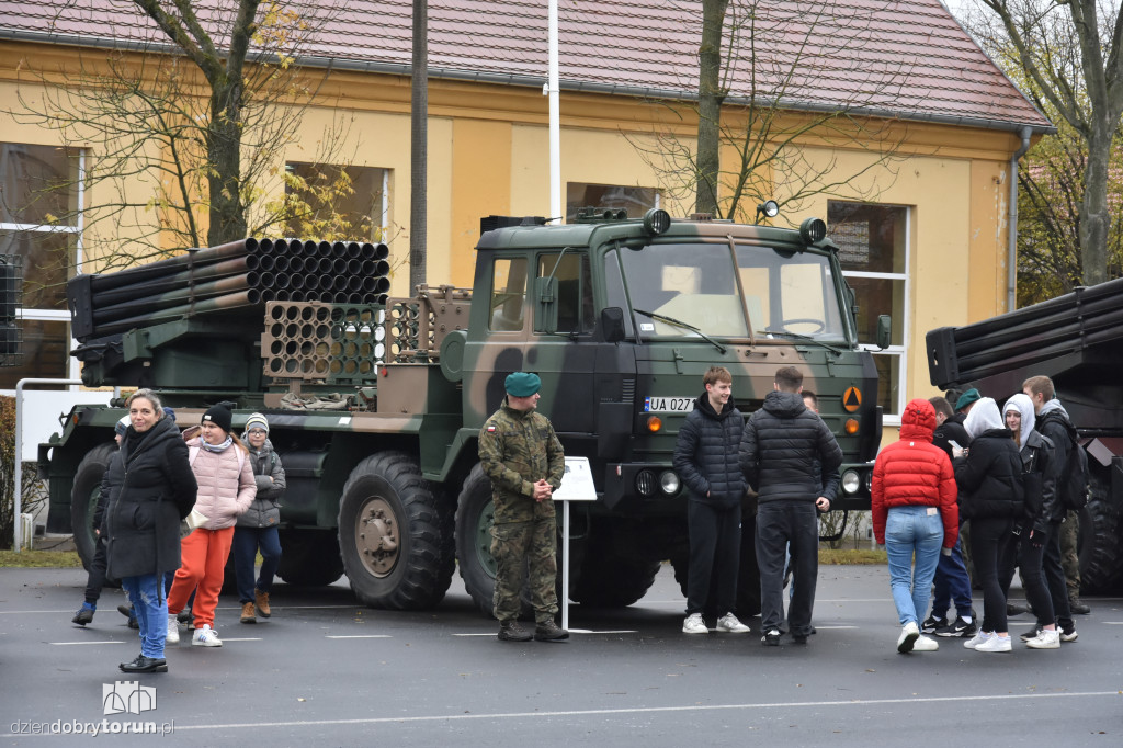
<path fill-rule="evenodd" d="M 270 618 L 273 576 L 281 564 L 281 494 L 285 490 L 284 467 L 270 441 L 270 422 L 262 413 L 246 419 L 243 444 L 249 450 L 257 495 L 234 529 L 234 571 L 241 603 L 241 622 L 256 623 L 257 615 Z M 262 551 L 262 571 L 254 583 L 254 560 Z M 255 614 L 256 610 L 256 614 Z"/>

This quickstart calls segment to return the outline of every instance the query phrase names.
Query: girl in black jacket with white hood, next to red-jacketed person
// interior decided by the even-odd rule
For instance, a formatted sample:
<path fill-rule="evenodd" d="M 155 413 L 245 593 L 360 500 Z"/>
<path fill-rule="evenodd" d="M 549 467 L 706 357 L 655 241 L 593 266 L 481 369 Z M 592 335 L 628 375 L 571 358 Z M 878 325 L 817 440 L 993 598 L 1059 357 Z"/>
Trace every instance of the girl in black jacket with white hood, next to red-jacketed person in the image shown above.
<path fill-rule="evenodd" d="M 1022 458 L 1014 434 L 1005 427 L 992 398 L 971 407 L 964 422 L 971 437 L 966 456 L 955 451 L 959 511 L 971 521 L 971 560 L 983 584 L 985 614 L 979 632 L 964 642 L 982 653 L 1010 651 L 1006 595 L 998 580 L 998 559 L 1014 538 L 1014 520 L 1025 512 Z"/>

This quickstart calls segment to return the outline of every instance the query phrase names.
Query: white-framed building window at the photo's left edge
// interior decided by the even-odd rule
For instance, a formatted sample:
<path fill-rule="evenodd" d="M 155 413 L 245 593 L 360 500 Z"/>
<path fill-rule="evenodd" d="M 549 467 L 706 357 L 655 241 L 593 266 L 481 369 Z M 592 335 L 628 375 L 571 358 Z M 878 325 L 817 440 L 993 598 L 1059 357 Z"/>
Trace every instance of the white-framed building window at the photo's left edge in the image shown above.
<path fill-rule="evenodd" d="M 0 366 L 0 391 L 28 377 L 76 378 L 70 357 L 66 281 L 81 271 L 80 150 L 0 143 L 0 255 L 22 267 L 16 323 L 20 353 Z"/>

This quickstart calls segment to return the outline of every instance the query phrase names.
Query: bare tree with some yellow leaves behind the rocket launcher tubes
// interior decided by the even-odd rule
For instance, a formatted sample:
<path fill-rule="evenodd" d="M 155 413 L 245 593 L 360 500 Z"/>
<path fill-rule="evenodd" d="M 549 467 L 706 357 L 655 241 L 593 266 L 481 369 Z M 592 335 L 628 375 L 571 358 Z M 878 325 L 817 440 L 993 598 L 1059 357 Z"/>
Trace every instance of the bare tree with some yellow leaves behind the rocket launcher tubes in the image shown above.
<path fill-rule="evenodd" d="M 56 130 L 63 145 L 84 147 L 82 185 L 97 202 L 75 208 L 88 254 L 113 270 L 283 230 L 299 218 L 299 201 L 271 200 L 265 186 L 284 181 L 282 157 L 330 72 L 296 62 L 339 7 L 239 0 L 197 15 L 186 0 L 115 0 L 112 8 L 144 13 L 158 31 L 138 49 L 80 48 L 65 70 L 26 61 L 29 85 L 11 107 L 17 119 Z M 329 126 L 313 161 L 330 161 L 344 131 Z"/>

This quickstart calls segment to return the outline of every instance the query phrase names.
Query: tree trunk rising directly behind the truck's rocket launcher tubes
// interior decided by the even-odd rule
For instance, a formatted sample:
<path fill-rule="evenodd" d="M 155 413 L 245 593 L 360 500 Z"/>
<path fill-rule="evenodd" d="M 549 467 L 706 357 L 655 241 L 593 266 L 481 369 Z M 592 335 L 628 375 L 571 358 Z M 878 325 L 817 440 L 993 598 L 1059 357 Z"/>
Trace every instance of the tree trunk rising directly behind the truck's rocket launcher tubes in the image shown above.
<path fill-rule="evenodd" d="M 246 238 L 241 204 L 241 81 L 211 81 L 207 128 L 207 183 L 210 188 L 209 246 Z"/>

